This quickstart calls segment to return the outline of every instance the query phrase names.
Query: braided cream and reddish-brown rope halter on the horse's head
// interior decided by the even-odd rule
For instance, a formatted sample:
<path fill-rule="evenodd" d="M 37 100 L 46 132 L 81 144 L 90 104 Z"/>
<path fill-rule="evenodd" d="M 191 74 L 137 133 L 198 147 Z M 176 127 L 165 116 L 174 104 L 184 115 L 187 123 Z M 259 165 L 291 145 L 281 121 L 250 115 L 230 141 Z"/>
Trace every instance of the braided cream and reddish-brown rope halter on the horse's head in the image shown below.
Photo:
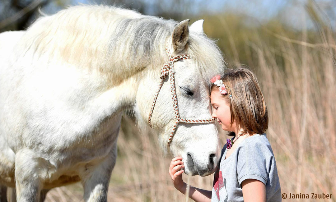
<path fill-rule="evenodd" d="M 170 55 L 170 51 L 168 49 L 168 45 L 166 47 L 166 53 L 167 53 L 167 55 L 169 57 L 169 60 L 166 63 L 164 63 L 164 65 L 161 68 L 161 76 L 160 76 L 161 81 L 159 83 L 159 88 L 156 91 L 156 94 L 154 96 L 153 105 L 152 105 L 152 108 L 151 108 L 151 112 L 149 114 L 149 125 L 152 128 L 152 114 L 153 114 L 153 111 L 154 111 L 154 106 L 155 106 L 156 100 L 158 98 L 159 92 L 161 90 L 163 81 L 166 79 L 166 75 L 169 74 L 171 96 L 172 96 L 172 100 L 173 100 L 173 107 L 174 107 L 175 117 L 177 119 L 175 121 L 175 124 L 173 126 L 173 130 L 172 130 L 172 132 L 170 134 L 170 137 L 169 137 L 169 140 L 168 140 L 168 146 L 170 146 L 170 143 L 171 143 L 171 141 L 173 139 L 175 130 L 177 128 L 177 124 L 179 122 L 183 122 L 183 123 L 212 123 L 212 122 L 215 122 L 215 119 L 214 118 L 210 118 L 210 119 L 203 119 L 203 120 L 192 120 L 192 119 L 180 118 L 179 111 L 178 111 L 178 106 L 177 106 L 176 89 L 175 89 L 175 78 L 174 78 L 174 72 L 173 72 L 172 69 L 174 67 L 174 62 L 176 62 L 178 60 L 190 59 L 190 55 L 188 55 L 188 54 L 187 55 L 176 55 L 176 56 L 172 57 Z"/>

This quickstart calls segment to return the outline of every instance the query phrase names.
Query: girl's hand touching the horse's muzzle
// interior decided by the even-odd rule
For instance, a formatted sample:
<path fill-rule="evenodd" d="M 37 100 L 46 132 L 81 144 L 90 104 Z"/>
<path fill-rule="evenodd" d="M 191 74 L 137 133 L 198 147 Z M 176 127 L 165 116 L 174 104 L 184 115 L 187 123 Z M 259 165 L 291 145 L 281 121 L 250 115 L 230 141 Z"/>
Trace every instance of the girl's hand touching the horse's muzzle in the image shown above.
<path fill-rule="evenodd" d="M 171 160 L 169 166 L 169 174 L 171 180 L 173 181 L 174 187 L 177 190 L 180 190 L 184 185 L 184 182 L 182 180 L 182 173 L 184 172 L 183 168 L 184 165 L 181 156 L 175 157 Z"/>

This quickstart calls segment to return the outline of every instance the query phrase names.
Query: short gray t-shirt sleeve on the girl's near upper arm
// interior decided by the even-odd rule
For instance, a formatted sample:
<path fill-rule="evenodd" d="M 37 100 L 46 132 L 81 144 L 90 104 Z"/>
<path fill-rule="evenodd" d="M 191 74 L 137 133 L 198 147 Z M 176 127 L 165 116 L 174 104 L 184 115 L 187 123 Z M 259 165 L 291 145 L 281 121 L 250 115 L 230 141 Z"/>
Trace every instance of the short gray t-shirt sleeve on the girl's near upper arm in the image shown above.
<path fill-rule="evenodd" d="M 270 145 L 249 141 L 239 151 L 237 159 L 237 179 L 242 188 L 246 179 L 267 183 L 270 166 L 274 160 Z"/>

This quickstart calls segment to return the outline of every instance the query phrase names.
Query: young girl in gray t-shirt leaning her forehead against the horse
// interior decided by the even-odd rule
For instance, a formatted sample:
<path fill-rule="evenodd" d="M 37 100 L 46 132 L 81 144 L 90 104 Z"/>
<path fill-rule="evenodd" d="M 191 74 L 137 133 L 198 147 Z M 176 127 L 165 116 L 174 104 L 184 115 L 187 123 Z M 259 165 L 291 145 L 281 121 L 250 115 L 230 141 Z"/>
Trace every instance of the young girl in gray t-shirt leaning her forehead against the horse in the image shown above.
<path fill-rule="evenodd" d="M 211 80 L 212 117 L 229 132 L 222 149 L 212 191 L 190 186 L 194 201 L 279 202 L 281 189 L 272 148 L 266 138 L 268 113 L 256 76 L 246 68 L 228 69 Z M 182 157 L 174 158 L 169 174 L 185 194 Z"/>

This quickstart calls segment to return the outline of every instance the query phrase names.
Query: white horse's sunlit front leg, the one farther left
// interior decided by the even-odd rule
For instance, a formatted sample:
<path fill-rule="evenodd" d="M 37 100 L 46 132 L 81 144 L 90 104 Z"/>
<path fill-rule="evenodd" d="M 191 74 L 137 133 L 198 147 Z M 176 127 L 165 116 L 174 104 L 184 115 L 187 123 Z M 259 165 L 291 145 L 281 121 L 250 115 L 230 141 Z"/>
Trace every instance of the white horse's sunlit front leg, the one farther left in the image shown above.
<path fill-rule="evenodd" d="M 15 154 L 16 200 L 18 202 L 38 202 L 41 193 L 43 159 L 29 149 L 22 149 Z M 39 171 L 39 172 L 38 172 Z"/>

